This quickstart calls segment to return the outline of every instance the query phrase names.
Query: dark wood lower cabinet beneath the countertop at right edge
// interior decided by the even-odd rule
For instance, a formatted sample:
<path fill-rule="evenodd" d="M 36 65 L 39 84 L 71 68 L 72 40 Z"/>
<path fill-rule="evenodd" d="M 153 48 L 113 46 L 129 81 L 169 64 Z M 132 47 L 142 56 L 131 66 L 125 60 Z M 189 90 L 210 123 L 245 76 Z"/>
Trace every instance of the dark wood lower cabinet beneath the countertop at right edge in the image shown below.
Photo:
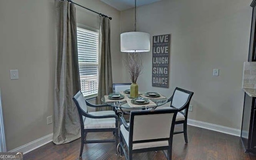
<path fill-rule="evenodd" d="M 241 138 L 246 153 L 256 154 L 256 97 L 245 93 Z"/>

